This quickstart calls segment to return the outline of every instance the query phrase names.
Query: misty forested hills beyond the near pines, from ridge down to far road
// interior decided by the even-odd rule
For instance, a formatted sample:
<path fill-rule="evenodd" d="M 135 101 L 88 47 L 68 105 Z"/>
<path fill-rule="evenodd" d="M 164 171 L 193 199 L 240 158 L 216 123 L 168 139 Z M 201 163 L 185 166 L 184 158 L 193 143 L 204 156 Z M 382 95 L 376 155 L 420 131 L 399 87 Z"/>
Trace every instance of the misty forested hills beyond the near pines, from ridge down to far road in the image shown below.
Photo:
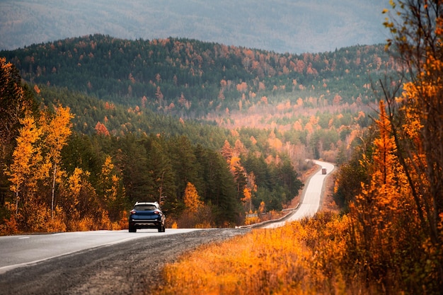
<path fill-rule="evenodd" d="M 113 135 L 158 132 L 159 125 L 173 127 L 169 133 L 180 120 L 203 119 L 229 129 L 267 129 L 277 149 L 298 145 L 292 151 L 330 161 L 340 142 L 349 146 L 352 131 L 370 124 L 366 114 L 376 108 L 379 79 L 398 69 L 383 45 L 297 55 L 88 35 L 0 54 L 25 81 L 38 83 L 47 100 L 75 108 L 74 128 L 82 133 L 94 133 L 98 123 Z M 159 124 L 159 115 L 169 118 Z"/>

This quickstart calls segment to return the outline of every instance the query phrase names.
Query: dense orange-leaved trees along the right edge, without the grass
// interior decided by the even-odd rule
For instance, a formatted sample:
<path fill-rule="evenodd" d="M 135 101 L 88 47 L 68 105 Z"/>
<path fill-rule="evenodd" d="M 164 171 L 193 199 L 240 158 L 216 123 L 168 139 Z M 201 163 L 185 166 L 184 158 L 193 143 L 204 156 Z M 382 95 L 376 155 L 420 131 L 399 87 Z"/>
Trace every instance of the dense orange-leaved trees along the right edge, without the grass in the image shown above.
<path fill-rule="evenodd" d="M 350 204 L 345 261 L 379 291 L 443 289 L 443 2 L 391 1 L 387 47 L 403 84 L 381 83 L 370 176 Z M 380 81 L 381 82 L 381 81 Z M 400 86 L 402 88 L 400 88 Z M 402 91 L 398 94 L 398 91 Z M 349 260 L 347 260 L 349 259 Z"/>

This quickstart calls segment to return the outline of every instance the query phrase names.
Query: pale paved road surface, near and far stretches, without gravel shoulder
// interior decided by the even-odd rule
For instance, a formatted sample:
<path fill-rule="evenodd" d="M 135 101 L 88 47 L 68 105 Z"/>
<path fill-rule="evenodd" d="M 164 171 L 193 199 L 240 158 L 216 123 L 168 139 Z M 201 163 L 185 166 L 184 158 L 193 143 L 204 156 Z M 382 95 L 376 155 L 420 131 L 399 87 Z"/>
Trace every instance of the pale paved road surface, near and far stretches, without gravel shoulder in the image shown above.
<path fill-rule="evenodd" d="M 284 225 L 288 221 L 312 216 L 320 207 L 323 183 L 326 176 L 334 169 L 333 164 L 313 161 L 318 166 L 326 168 L 327 174 L 321 173 L 321 168 L 309 178 L 304 187 L 299 207 L 284 221 L 274 222 L 265 226 L 272 229 Z M 53 233 L 45 235 L 21 235 L 0 237 L 0 274 L 16 267 L 35 264 L 43 260 L 62 255 L 76 253 L 81 250 L 97 248 L 132 241 L 137 238 L 154 238 L 161 235 L 188 233 L 195 229 L 168 229 L 166 233 L 143 230 L 138 233 L 125 231 L 81 231 L 71 233 Z"/>

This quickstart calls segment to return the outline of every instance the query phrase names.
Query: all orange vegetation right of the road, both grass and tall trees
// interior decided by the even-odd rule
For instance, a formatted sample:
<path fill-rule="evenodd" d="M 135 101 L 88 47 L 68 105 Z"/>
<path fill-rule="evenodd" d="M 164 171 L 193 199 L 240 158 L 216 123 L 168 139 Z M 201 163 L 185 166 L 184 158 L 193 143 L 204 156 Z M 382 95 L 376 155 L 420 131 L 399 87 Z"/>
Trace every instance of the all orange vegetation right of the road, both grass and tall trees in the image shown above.
<path fill-rule="evenodd" d="M 156 294 L 441 294 L 443 5 L 391 4 L 403 23 L 386 21 L 388 46 L 410 77 L 382 83 L 374 125 L 338 171 L 343 213 L 197 249 Z"/>

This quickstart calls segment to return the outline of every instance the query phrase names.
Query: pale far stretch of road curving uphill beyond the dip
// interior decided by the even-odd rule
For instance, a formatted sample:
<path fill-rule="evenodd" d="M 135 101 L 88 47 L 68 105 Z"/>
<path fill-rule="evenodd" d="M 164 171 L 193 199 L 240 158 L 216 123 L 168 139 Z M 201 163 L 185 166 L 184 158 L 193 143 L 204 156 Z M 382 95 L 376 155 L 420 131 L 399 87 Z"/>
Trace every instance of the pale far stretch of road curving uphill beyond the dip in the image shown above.
<path fill-rule="evenodd" d="M 274 222 L 263 226 L 263 229 L 274 229 L 279 226 L 283 226 L 286 222 L 302 219 L 304 217 L 313 216 L 320 207 L 321 195 L 323 192 L 323 185 L 325 184 L 326 177 L 334 170 L 334 166 L 331 163 L 313 160 L 320 168 L 315 174 L 309 178 L 305 184 L 303 196 L 300 201 L 298 209 L 292 213 L 284 221 Z M 321 173 L 321 168 L 326 168 L 326 175 Z"/>

